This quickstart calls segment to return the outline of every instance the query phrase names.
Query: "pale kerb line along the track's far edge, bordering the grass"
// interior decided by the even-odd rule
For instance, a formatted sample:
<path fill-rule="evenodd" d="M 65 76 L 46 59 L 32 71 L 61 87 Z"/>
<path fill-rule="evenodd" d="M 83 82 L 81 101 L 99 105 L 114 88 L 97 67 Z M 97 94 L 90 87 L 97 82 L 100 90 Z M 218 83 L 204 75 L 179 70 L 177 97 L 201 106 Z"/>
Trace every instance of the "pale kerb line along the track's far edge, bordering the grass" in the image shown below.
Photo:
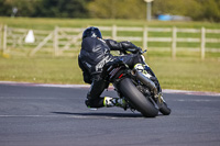
<path fill-rule="evenodd" d="M 26 86 L 26 87 L 55 87 L 55 88 L 89 88 L 89 85 L 52 85 L 52 83 L 31 83 L 31 82 L 15 82 L 15 81 L 0 81 L 0 85 L 10 86 Z M 113 90 L 113 87 L 109 87 L 109 90 Z M 177 94 L 194 94 L 194 96 L 213 96 L 220 97 L 217 92 L 200 92 L 200 91 L 186 91 L 186 90 L 170 90 L 164 89 L 163 93 L 177 93 Z"/>

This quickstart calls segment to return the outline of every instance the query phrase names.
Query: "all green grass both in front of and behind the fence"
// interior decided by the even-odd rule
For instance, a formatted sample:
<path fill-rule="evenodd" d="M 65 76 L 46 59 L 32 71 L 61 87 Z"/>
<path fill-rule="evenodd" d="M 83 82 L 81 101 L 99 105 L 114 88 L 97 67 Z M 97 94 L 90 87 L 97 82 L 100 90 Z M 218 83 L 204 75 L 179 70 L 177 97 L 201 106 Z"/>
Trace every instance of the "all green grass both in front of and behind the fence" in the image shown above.
<path fill-rule="evenodd" d="M 61 27 L 87 27 L 95 26 L 151 26 L 151 27 L 188 27 L 188 29 L 219 29 L 219 23 L 209 22 L 146 22 L 144 20 L 98 20 L 98 19 L 33 19 L 33 18 L 0 18 L 0 24 L 11 27 L 33 29 L 52 31 L 55 26 Z M 138 32 L 118 32 L 118 35 L 142 36 Z M 103 32 L 103 35 L 111 35 Z M 200 34 L 178 33 L 180 37 L 200 38 Z M 172 33 L 152 33 L 151 37 L 170 37 Z M 220 38 L 220 34 L 206 34 L 208 38 Z M 141 42 L 133 42 L 142 46 Z M 1 44 L 2 45 L 2 44 Z M 206 53 L 206 59 L 200 60 L 199 52 L 177 50 L 176 59 L 170 58 L 170 52 L 160 48 L 170 47 L 172 43 L 148 42 L 147 63 L 151 65 L 164 89 L 180 89 L 196 91 L 220 92 L 220 53 Z M 218 48 L 219 43 L 207 43 L 206 47 Z M 200 47 L 199 43 L 177 43 L 178 47 Z M 157 50 L 151 47 L 160 47 Z M 80 47 L 79 47 L 80 48 Z M 36 56 L 10 58 L 0 57 L 0 80 L 28 81 L 43 83 L 84 83 L 81 71 L 77 65 L 78 49 L 72 52 L 72 57 L 52 57 L 52 46 L 45 52 L 37 52 Z M 26 54 L 30 48 L 13 48 L 14 52 Z M 51 52 L 48 52 L 51 50 Z M 0 55 L 1 56 L 1 55 Z M 8 57 L 4 55 L 4 57 Z"/>

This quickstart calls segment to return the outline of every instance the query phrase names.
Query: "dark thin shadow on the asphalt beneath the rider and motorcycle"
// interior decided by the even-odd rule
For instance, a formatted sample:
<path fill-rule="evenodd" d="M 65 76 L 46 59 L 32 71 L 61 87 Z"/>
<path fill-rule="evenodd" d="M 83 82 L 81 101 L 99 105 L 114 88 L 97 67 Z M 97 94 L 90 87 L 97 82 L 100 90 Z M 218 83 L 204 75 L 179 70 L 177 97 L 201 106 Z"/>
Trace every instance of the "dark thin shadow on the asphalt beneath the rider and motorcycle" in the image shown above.
<path fill-rule="evenodd" d="M 72 113 L 72 112 L 52 112 L 55 114 L 89 116 L 89 117 L 143 117 L 140 113 Z"/>

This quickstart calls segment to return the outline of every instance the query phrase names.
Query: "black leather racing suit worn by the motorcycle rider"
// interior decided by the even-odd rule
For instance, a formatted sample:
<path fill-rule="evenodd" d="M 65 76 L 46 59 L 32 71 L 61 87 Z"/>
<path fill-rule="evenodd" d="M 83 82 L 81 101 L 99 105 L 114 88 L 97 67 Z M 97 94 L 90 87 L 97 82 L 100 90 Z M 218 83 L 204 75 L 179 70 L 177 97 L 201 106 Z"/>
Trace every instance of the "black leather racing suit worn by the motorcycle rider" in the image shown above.
<path fill-rule="evenodd" d="M 103 106 L 103 98 L 100 94 L 108 87 L 109 82 L 101 79 L 100 72 L 106 63 L 114 59 L 123 60 L 131 69 L 138 63 L 143 63 L 140 55 L 113 56 L 110 50 L 138 50 L 140 49 L 130 42 L 117 43 L 112 40 L 101 40 L 96 37 L 86 37 L 81 42 L 81 50 L 78 56 L 78 64 L 84 74 L 84 81 L 91 83 L 87 94 L 86 104 L 90 108 Z"/>

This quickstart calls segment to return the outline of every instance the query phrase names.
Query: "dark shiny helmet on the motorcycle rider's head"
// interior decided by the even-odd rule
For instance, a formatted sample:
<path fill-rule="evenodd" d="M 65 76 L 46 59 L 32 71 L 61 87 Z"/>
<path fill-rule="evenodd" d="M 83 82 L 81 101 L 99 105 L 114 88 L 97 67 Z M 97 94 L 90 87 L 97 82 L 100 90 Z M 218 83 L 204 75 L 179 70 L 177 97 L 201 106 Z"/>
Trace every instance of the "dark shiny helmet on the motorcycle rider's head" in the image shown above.
<path fill-rule="evenodd" d="M 87 27 L 84 31 L 82 40 L 86 38 L 86 37 L 99 37 L 99 38 L 102 38 L 101 32 L 99 31 L 98 27 L 95 27 L 95 26 Z"/>

